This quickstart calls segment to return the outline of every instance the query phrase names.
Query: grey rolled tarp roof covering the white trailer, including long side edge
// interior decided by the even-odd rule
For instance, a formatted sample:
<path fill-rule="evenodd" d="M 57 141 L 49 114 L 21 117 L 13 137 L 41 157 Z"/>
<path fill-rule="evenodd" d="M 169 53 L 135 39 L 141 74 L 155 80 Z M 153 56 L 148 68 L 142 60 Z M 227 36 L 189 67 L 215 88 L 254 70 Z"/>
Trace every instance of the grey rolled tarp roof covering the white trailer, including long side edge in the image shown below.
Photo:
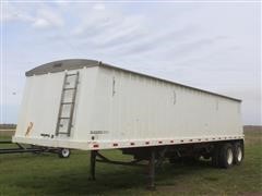
<path fill-rule="evenodd" d="M 129 72 L 129 73 L 133 73 L 133 74 L 136 74 L 136 75 L 163 81 L 163 82 L 166 82 L 166 83 L 171 83 L 171 84 L 182 86 L 182 87 L 187 87 L 187 88 L 191 88 L 191 89 L 199 90 L 199 91 L 202 91 L 202 93 L 206 93 L 206 94 L 210 94 L 210 95 L 231 99 L 231 100 L 235 100 L 235 101 L 241 101 L 240 99 L 237 99 L 237 98 L 228 97 L 228 96 L 216 94 L 216 93 L 213 93 L 213 91 L 207 91 L 207 90 L 204 90 L 204 89 L 201 89 L 201 88 L 195 88 L 195 87 L 183 85 L 183 84 L 176 83 L 176 82 L 172 82 L 172 81 L 167 81 L 167 79 L 164 79 L 164 78 L 155 77 L 155 76 L 152 76 L 152 75 L 146 75 L 146 74 L 133 72 L 133 71 L 130 71 L 130 70 L 126 70 L 126 69 L 121 69 L 121 68 L 114 66 L 114 65 L 110 65 L 110 64 L 106 64 L 106 63 L 103 63 L 102 61 L 96 61 L 96 60 L 69 59 L 69 60 L 53 61 L 53 62 L 50 62 L 50 63 L 46 63 L 46 64 L 36 66 L 35 69 L 32 69 L 32 70 L 27 71 L 25 73 L 25 75 L 26 76 L 41 75 L 41 74 L 47 74 L 47 73 L 62 72 L 64 70 L 78 70 L 78 69 L 91 68 L 91 66 L 106 66 L 106 68 L 114 69 L 114 70 L 120 70 L 120 71 L 123 71 L 123 72 Z"/>

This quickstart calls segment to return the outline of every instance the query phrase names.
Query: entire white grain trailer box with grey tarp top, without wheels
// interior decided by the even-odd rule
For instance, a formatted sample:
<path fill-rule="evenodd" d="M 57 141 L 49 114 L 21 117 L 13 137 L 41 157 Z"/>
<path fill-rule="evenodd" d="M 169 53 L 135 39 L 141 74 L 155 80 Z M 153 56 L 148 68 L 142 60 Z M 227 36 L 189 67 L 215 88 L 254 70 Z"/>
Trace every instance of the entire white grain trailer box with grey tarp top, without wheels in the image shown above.
<path fill-rule="evenodd" d="M 235 98 L 92 60 L 26 75 L 15 143 L 94 150 L 243 139 Z"/>

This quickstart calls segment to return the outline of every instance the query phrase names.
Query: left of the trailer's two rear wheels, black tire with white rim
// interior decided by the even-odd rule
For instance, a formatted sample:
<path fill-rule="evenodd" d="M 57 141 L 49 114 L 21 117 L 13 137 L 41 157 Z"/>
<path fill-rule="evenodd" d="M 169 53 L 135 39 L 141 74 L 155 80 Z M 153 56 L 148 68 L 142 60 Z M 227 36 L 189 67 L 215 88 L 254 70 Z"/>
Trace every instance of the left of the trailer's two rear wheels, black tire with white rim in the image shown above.
<path fill-rule="evenodd" d="M 226 143 L 219 150 L 218 158 L 219 167 L 228 169 L 234 164 L 234 147 L 231 144 Z"/>

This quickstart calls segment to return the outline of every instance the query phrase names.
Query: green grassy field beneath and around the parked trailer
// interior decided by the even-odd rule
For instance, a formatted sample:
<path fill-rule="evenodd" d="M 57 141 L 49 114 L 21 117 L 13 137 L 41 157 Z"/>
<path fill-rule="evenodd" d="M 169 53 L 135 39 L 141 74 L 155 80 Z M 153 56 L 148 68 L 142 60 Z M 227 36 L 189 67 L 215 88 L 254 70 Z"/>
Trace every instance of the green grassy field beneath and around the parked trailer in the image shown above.
<path fill-rule="evenodd" d="M 156 173 L 156 191 L 145 188 L 146 169 L 97 163 L 97 181 L 88 181 L 90 154 L 0 155 L 0 195 L 262 195 L 262 132 L 246 133 L 246 157 L 229 170 L 166 162 Z M 7 137 L 5 137 L 7 138 Z M 108 157 L 129 159 L 120 151 Z"/>

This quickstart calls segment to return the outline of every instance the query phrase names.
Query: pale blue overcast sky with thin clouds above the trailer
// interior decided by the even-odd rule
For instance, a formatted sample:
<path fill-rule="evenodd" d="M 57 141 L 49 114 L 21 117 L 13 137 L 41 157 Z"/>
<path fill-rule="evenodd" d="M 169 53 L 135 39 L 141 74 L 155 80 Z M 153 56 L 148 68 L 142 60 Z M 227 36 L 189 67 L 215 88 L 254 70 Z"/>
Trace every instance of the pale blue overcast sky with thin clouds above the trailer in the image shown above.
<path fill-rule="evenodd" d="M 1 29 L 2 123 L 25 71 L 71 58 L 240 98 L 243 123 L 262 122 L 259 2 L 2 2 Z"/>

